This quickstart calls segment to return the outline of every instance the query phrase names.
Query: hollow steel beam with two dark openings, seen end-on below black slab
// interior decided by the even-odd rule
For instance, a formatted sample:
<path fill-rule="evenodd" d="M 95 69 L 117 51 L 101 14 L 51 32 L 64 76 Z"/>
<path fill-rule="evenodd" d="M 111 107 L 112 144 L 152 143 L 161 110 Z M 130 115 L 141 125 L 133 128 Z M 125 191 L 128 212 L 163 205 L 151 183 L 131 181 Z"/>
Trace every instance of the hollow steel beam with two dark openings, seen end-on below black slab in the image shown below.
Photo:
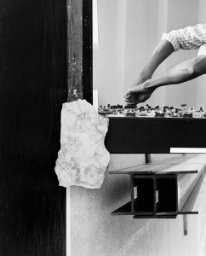
<path fill-rule="evenodd" d="M 169 161 L 168 165 L 146 164 L 116 171 L 116 174 L 129 174 L 131 201 L 129 207 L 120 207 L 112 213 L 125 212 L 135 218 L 197 214 L 193 207 L 203 183 L 205 156 L 196 154 L 183 157 L 182 161 L 175 159 L 174 165 Z"/>

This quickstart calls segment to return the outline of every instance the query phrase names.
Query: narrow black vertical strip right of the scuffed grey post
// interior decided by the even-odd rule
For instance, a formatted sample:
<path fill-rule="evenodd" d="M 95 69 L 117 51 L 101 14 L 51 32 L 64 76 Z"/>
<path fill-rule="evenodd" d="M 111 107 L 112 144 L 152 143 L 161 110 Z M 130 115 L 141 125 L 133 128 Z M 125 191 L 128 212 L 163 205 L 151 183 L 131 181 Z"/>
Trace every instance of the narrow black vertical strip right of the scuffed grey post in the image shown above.
<path fill-rule="evenodd" d="M 83 1 L 83 99 L 93 103 L 92 0 Z"/>

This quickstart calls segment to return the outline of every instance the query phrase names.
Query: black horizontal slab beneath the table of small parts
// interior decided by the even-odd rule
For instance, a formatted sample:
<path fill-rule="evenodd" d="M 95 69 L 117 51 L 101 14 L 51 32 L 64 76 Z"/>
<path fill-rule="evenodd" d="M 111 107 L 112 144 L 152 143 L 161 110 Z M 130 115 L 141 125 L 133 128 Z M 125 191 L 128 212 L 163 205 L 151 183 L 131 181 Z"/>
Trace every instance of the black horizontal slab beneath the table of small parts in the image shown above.
<path fill-rule="evenodd" d="M 110 118 L 105 144 L 111 154 L 167 154 L 205 148 L 205 131 L 206 119 Z"/>

